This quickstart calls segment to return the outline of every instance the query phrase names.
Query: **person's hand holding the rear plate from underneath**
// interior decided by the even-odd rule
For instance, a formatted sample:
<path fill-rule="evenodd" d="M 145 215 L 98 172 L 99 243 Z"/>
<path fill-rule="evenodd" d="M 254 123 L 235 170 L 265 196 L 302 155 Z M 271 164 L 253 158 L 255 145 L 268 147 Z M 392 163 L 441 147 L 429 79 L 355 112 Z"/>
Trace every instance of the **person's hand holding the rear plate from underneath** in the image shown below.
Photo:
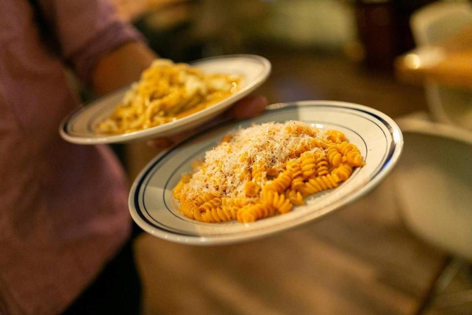
<path fill-rule="evenodd" d="M 250 95 L 236 102 L 233 107 L 224 112 L 222 115 L 219 115 L 218 117 L 214 118 L 207 124 L 216 124 L 218 122 L 223 122 L 229 119 L 240 120 L 254 117 L 264 113 L 264 111 L 266 110 L 266 106 L 266 97 L 259 95 Z M 196 132 L 198 132 L 198 128 L 190 131 L 187 130 L 185 132 L 178 133 L 176 135 L 172 135 L 165 138 L 156 138 L 148 141 L 148 145 L 153 148 L 162 150 L 173 145 L 174 143 L 178 143 L 187 139 Z"/>

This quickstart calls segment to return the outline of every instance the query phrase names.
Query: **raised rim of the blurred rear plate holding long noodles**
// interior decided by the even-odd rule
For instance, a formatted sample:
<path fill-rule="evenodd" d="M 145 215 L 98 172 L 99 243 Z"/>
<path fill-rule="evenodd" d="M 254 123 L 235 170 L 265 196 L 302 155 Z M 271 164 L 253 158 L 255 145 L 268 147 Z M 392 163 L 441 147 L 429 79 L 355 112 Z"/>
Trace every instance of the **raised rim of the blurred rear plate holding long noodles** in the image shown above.
<path fill-rule="evenodd" d="M 248 95 L 250 92 L 261 86 L 268 76 L 270 75 L 272 66 L 268 59 L 258 55 L 225 55 L 225 56 L 216 56 L 216 57 L 208 57 L 202 58 L 195 61 L 190 62 L 191 65 L 198 65 L 199 63 L 205 63 L 212 60 L 224 60 L 224 59 L 234 59 L 234 58 L 246 58 L 260 62 L 264 66 L 264 70 L 261 74 L 252 82 L 249 82 L 246 86 L 244 86 L 241 90 L 237 91 L 235 94 L 229 96 L 228 98 L 204 109 L 194 114 L 182 117 L 177 119 L 176 121 L 168 122 L 166 124 L 151 127 L 144 130 L 138 130 L 135 132 L 130 132 L 127 134 L 121 135 L 111 135 L 111 136 L 96 136 L 96 137 L 88 137 L 88 136 L 78 136 L 78 135 L 71 135 L 67 131 L 67 126 L 69 121 L 71 121 L 77 115 L 80 115 L 82 112 L 87 110 L 87 107 L 80 107 L 67 115 L 59 125 L 59 134 L 65 141 L 75 144 L 107 144 L 107 143 L 123 143 L 137 139 L 146 139 L 152 136 L 159 136 L 164 133 L 168 133 L 170 130 L 174 128 L 178 128 L 184 126 L 186 124 L 192 123 L 195 120 L 201 119 L 207 115 L 212 115 L 226 107 L 230 106 L 231 104 L 235 103 L 239 99 L 243 98 L 244 96 Z M 129 86 L 121 87 L 115 91 L 112 91 L 109 94 L 103 95 L 98 97 L 94 100 L 91 100 L 87 104 L 93 104 L 99 102 L 103 97 L 106 97 L 112 93 L 118 93 L 122 90 L 129 88 Z"/>

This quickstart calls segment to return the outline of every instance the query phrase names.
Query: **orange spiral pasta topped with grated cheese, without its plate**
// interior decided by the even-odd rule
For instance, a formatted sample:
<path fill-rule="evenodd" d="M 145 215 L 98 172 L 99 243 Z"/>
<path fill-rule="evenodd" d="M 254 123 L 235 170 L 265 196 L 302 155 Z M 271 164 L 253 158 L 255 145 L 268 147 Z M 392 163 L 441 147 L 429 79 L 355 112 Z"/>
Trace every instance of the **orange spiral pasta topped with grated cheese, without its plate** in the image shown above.
<path fill-rule="evenodd" d="M 338 187 L 364 164 L 340 131 L 321 132 L 300 121 L 265 123 L 225 136 L 182 176 L 174 197 L 197 221 L 253 222 Z"/>

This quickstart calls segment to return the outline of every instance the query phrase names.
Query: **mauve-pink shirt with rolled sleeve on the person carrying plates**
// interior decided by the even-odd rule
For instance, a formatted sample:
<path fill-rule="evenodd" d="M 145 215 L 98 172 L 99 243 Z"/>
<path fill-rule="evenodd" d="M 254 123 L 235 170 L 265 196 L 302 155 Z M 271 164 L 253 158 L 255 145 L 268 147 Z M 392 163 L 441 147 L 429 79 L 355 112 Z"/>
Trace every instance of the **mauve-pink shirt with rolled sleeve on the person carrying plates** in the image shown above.
<path fill-rule="evenodd" d="M 127 183 L 105 146 L 59 138 L 96 61 L 140 35 L 104 0 L 40 0 L 60 57 L 28 0 L 0 0 L 0 315 L 58 314 L 129 236 Z"/>

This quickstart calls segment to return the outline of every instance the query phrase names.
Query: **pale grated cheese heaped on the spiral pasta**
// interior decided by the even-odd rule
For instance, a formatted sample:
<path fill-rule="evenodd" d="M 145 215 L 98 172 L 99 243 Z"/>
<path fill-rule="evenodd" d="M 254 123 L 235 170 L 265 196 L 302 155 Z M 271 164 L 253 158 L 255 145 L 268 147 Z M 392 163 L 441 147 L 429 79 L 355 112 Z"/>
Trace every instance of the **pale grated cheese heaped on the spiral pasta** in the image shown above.
<path fill-rule="evenodd" d="M 301 132 L 295 132 L 301 130 Z M 325 141 L 316 128 L 300 121 L 269 122 L 238 129 L 205 154 L 205 161 L 195 168 L 190 180 L 182 187 L 189 197 L 202 193 L 222 197 L 244 196 L 246 176 L 255 165 L 281 172 L 300 145 L 316 138 Z M 265 178 L 266 173 L 263 173 Z M 258 182 L 262 186 L 266 182 Z"/>

